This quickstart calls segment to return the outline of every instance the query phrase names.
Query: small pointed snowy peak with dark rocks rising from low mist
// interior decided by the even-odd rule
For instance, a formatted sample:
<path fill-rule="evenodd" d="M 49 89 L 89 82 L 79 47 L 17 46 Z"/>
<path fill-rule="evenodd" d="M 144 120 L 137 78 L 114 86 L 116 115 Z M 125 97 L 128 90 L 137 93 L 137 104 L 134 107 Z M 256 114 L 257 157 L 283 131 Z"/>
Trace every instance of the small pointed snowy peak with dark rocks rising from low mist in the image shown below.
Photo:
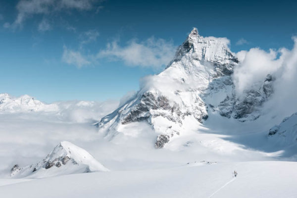
<path fill-rule="evenodd" d="M 63 141 L 37 164 L 11 169 L 13 178 L 44 178 L 57 175 L 108 171 L 89 152 L 70 142 Z"/>

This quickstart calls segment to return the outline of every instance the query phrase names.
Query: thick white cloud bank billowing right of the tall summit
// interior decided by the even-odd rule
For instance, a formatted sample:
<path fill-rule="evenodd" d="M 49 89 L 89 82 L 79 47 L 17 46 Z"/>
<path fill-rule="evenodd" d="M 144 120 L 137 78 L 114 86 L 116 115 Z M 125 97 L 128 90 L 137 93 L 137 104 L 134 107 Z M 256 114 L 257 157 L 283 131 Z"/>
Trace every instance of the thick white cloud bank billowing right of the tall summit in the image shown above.
<path fill-rule="evenodd" d="M 272 116 L 284 118 L 297 112 L 297 37 L 293 37 L 293 49 L 278 49 L 264 51 L 252 48 L 240 51 L 240 60 L 234 70 L 236 91 L 258 89 L 267 74 L 276 79 L 273 83 L 274 94 L 265 103 L 266 112 Z"/>

